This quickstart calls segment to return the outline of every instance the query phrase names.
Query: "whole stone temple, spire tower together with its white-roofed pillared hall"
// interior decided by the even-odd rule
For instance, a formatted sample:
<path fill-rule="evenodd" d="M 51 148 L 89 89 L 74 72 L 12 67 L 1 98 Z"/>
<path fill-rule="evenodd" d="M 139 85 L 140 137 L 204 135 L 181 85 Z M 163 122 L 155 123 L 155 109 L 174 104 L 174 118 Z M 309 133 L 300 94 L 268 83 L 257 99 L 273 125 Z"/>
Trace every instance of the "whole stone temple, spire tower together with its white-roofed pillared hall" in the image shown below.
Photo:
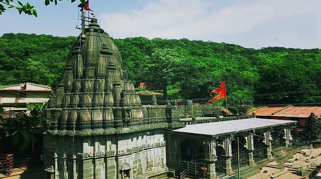
<path fill-rule="evenodd" d="M 235 173 L 236 137 L 242 166 L 271 158 L 272 144 L 291 145 L 296 121 L 182 117 L 154 96 L 142 105 L 111 37 L 86 18 L 44 111 L 48 178 L 223 178 Z"/>

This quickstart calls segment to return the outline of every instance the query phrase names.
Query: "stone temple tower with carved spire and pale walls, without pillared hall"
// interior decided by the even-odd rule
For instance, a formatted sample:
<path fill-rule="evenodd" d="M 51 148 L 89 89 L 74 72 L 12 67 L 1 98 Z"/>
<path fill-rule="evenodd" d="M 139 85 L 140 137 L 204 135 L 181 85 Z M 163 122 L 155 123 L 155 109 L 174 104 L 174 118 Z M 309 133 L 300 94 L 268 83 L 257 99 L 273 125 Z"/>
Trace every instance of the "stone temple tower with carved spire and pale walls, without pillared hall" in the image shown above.
<path fill-rule="evenodd" d="M 44 141 L 52 178 L 166 177 L 162 129 L 183 126 L 171 106 L 141 105 L 96 18 L 73 45 L 45 112 L 54 135 Z"/>

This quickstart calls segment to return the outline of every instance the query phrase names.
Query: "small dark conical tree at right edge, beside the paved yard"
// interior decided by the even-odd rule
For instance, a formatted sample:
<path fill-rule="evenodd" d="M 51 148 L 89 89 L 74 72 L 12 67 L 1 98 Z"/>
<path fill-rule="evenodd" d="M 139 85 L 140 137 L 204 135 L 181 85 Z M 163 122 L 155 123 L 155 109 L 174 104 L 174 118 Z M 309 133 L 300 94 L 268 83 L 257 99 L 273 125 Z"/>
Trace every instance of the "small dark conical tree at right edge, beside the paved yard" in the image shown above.
<path fill-rule="evenodd" d="M 314 140 L 320 136 L 321 131 L 321 121 L 319 121 L 315 114 L 311 112 L 310 116 L 305 121 L 305 130 L 306 137 L 308 139 Z"/>

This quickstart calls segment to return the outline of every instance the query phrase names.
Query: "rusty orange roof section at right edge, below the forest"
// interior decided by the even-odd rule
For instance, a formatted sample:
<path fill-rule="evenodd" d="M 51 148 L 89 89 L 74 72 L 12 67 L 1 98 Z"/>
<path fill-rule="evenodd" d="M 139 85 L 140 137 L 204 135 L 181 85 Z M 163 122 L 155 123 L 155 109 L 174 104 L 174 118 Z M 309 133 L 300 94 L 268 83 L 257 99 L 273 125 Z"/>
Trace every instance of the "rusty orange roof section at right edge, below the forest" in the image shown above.
<path fill-rule="evenodd" d="M 271 116 L 283 117 L 308 117 L 311 112 L 315 115 L 321 115 L 321 106 L 290 106 Z"/>

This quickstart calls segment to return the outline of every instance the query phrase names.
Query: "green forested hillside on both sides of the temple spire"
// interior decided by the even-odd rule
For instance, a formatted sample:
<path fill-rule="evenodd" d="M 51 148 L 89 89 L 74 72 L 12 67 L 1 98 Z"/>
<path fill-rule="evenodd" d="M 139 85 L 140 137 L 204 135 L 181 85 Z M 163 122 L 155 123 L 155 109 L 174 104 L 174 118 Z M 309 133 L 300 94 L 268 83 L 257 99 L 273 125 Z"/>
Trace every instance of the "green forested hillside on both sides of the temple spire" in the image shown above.
<path fill-rule="evenodd" d="M 7 33 L 0 38 L 0 85 L 54 86 L 76 37 Z M 170 99 L 205 98 L 226 81 L 231 105 L 320 102 L 320 49 L 266 47 L 189 39 L 114 39 L 135 81 L 163 83 Z M 159 88 L 162 89 L 162 88 Z M 166 91 L 165 91 L 166 92 Z"/>

